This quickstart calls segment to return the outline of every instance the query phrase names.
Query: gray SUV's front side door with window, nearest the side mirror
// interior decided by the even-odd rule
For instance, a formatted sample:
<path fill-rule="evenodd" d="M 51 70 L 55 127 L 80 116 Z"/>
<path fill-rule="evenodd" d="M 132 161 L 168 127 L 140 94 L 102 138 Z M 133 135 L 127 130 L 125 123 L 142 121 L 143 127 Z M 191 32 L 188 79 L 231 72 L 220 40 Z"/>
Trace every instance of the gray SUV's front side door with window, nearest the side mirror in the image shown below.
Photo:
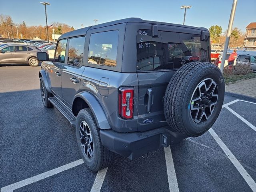
<path fill-rule="evenodd" d="M 66 39 L 58 41 L 54 62 L 52 62 L 52 65 L 49 66 L 51 90 L 53 94 L 58 96 L 59 98 L 62 98 L 61 78 L 62 78 L 62 70 L 66 62 L 66 56 L 65 56 L 66 46 L 67 46 Z"/>

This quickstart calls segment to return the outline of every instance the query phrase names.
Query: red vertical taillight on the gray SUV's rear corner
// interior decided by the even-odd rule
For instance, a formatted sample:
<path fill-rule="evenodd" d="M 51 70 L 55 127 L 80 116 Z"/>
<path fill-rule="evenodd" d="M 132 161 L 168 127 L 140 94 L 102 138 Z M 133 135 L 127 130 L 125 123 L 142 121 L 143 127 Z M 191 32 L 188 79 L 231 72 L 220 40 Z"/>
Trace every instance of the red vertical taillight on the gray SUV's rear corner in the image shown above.
<path fill-rule="evenodd" d="M 118 114 L 123 119 L 133 118 L 134 89 L 120 88 L 118 91 Z"/>

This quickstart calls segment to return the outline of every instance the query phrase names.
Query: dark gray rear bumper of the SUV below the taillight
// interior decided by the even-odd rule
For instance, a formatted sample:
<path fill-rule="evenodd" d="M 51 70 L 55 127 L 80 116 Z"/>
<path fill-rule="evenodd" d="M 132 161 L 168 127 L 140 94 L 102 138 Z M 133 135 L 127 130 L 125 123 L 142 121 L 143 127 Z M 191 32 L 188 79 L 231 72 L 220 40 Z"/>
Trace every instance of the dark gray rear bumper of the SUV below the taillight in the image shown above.
<path fill-rule="evenodd" d="M 130 133 L 100 130 L 100 138 L 102 145 L 108 150 L 132 160 L 186 138 L 186 136 L 169 129 L 169 127 L 162 127 L 145 132 Z"/>

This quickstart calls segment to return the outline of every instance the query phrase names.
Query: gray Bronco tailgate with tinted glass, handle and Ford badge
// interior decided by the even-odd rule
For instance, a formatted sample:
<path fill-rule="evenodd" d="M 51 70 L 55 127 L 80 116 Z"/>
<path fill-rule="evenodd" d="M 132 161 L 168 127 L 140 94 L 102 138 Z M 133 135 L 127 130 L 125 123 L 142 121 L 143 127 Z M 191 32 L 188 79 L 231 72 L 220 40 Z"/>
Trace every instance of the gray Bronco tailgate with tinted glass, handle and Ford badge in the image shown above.
<path fill-rule="evenodd" d="M 138 131 L 167 125 L 164 94 L 185 56 L 199 56 L 200 61 L 210 62 L 209 42 L 201 41 L 200 34 L 160 31 L 155 38 L 151 30 L 138 31 Z"/>

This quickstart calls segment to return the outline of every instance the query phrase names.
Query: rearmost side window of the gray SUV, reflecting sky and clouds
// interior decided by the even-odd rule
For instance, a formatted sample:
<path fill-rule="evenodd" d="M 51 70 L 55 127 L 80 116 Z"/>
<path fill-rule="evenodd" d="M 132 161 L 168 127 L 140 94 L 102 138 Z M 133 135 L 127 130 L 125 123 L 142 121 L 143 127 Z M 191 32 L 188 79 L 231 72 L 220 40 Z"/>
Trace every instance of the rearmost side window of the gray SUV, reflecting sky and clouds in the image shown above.
<path fill-rule="evenodd" d="M 91 34 L 88 63 L 115 67 L 118 35 L 118 30 Z"/>

